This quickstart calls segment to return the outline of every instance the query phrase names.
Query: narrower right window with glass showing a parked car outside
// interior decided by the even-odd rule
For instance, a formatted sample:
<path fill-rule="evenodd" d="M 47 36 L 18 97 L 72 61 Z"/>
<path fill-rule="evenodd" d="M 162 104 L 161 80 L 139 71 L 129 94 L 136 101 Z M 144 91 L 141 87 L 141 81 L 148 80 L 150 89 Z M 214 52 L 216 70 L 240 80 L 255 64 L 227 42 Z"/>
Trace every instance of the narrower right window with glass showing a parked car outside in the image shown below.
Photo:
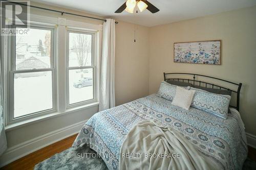
<path fill-rule="evenodd" d="M 68 51 L 68 105 L 94 99 L 94 34 L 70 30 Z"/>

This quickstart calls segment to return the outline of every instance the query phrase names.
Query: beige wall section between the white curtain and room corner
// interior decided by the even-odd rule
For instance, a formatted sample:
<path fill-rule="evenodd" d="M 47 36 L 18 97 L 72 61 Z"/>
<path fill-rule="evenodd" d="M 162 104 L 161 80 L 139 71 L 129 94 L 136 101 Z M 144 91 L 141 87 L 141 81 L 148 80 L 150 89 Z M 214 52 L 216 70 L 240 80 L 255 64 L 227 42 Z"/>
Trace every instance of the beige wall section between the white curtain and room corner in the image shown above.
<path fill-rule="evenodd" d="M 116 25 L 116 105 L 148 95 L 149 28 L 119 21 Z"/>

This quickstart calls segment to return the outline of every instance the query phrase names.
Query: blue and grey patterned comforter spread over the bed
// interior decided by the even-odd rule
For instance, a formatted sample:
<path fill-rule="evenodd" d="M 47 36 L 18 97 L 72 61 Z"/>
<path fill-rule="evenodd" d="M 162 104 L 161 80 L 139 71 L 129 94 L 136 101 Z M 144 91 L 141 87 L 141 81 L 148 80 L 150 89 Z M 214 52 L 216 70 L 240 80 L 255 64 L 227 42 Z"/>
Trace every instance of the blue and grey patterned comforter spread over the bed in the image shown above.
<path fill-rule="evenodd" d="M 186 111 L 171 103 L 152 94 L 96 113 L 82 127 L 73 147 L 90 144 L 109 169 L 118 169 L 120 148 L 129 130 L 140 120 L 154 119 L 178 130 L 223 169 L 242 169 L 248 150 L 238 114 L 229 113 L 223 119 L 192 107 Z"/>

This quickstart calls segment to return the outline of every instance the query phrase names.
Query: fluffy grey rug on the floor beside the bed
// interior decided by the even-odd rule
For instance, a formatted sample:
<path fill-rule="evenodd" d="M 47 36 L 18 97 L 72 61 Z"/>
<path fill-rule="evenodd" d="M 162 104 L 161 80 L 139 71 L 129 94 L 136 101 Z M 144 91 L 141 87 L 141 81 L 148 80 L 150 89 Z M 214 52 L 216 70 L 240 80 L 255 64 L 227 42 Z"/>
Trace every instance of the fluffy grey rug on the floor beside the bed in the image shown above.
<path fill-rule="evenodd" d="M 97 155 L 95 151 L 90 149 L 87 145 L 79 147 L 77 150 L 69 148 L 61 153 L 55 154 L 37 165 L 36 170 L 52 170 L 52 169 L 108 169 L 104 161 Z M 256 169 L 256 162 L 246 159 L 243 170 Z"/>

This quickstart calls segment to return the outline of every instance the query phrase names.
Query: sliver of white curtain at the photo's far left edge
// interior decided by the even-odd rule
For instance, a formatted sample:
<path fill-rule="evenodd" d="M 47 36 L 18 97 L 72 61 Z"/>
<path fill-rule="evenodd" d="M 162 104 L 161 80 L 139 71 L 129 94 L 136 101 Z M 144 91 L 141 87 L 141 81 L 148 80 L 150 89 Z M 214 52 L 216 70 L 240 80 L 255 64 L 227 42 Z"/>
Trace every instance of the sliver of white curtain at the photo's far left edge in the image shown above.
<path fill-rule="evenodd" d="M 0 155 L 2 155 L 7 149 L 7 142 L 5 136 L 5 127 L 3 120 L 3 81 L 2 81 L 2 71 L 1 71 L 1 62 L 0 62 Z"/>

